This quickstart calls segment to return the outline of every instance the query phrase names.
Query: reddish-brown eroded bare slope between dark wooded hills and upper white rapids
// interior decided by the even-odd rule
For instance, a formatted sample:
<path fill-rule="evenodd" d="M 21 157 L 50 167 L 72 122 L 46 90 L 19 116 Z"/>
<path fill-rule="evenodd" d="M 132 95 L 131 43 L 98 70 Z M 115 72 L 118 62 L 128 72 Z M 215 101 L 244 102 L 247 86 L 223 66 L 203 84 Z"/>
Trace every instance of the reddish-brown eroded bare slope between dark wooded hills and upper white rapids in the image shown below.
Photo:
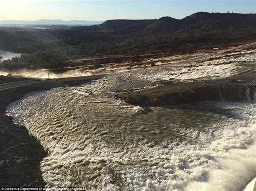
<path fill-rule="evenodd" d="M 161 51 L 147 52 L 138 51 L 137 54 L 126 55 L 111 55 L 94 58 L 83 58 L 78 60 L 67 61 L 65 68 L 59 69 L 62 72 L 70 70 L 80 70 L 86 73 L 102 73 L 106 70 L 115 72 L 118 70 L 129 70 L 132 68 L 145 68 L 161 64 L 179 64 L 181 61 L 198 58 L 200 56 L 209 56 L 219 53 L 232 52 L 235 49 L 243 48 L 250 49 L 255 46 L 255 41 L 246 41 L 244 43 L 231 44 L 212 44 L 212 45 L 198 45 L 191 47 L 189 45 L 179 47 L 173 45 L 166 45 L 166 49 Z M 238 55 L 241 56 L 241 55 Z M 217 58 L 214 58 L 217 59 Z M 53 72 L 58 73 L 58 70 Z"/>

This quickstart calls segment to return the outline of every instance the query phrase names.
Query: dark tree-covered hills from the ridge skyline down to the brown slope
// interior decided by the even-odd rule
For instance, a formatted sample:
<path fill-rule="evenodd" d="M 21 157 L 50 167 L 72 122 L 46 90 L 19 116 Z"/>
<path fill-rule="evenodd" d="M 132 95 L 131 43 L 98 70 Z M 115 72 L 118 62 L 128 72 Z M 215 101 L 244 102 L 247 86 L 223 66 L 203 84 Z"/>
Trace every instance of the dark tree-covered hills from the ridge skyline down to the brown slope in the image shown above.
<path fill-rule="evenodd" d="M 26 53 L 8 69 L 58 68 L 90 56 L 186 53 L 256 39 L 256 14 L 198 12 L 183 19 L 107 20 L 92 26 L 0 27 L 0 49 Z"/>

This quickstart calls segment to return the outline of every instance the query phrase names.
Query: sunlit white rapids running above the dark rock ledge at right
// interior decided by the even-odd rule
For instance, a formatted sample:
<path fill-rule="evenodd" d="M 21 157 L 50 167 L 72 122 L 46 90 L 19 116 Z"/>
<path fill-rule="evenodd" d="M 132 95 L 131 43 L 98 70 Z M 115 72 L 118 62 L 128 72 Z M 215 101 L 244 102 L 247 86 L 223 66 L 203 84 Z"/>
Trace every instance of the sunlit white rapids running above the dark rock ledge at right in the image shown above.
<path fill-rule="evenodd" d="M 184 61 L 182 64 L 164 65 L 144 70 L 139 76 L 143 80 L 212 80 L 224 79 L 240 72 L 255 69 L 256 50 L 239 51 Z"/>

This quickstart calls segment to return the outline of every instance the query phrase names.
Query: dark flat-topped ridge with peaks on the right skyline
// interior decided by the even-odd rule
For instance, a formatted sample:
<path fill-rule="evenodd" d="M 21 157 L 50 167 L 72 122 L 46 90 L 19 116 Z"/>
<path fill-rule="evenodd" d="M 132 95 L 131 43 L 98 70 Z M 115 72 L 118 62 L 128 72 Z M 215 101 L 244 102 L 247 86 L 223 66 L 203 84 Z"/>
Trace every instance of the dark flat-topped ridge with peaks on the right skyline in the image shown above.
<path fill-rule="evenodd" d="M 162 17 L 153 20 L 106 20 L 103 24 L 95 26 L 93 30 L 123 34 L 156 34 L 191 30 L 226 30 L 231 26 L 234 30 L 255 28 L 256 14 L 198 12 L 183 19 Z"/>

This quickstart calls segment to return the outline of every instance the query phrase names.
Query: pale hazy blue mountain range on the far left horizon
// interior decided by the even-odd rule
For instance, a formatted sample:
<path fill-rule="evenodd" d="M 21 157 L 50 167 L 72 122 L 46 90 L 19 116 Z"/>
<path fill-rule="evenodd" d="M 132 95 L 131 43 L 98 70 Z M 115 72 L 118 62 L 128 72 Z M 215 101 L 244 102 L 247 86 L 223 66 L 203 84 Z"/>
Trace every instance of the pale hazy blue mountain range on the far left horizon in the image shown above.
<path fill-rule="evenodd" d="M 87 20 L 0 20 L 0 25 L 98 25 L 104 21 Z"/>

